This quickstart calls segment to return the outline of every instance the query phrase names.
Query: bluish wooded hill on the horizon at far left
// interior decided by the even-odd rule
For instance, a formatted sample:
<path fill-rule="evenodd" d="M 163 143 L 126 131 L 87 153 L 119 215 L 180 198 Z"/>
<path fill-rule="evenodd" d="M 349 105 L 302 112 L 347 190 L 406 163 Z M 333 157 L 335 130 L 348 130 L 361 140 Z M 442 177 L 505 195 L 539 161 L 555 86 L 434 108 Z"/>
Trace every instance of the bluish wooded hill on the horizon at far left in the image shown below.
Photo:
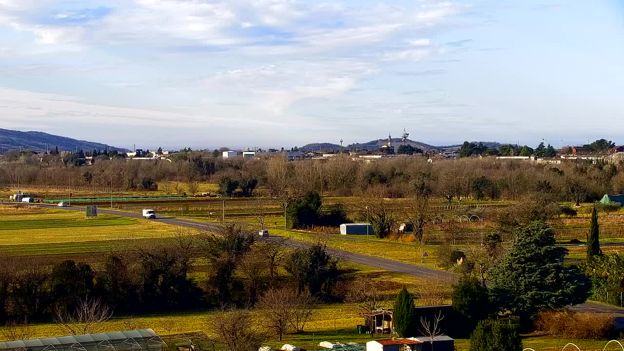
<path fill-rule="evenodd" d="M 48 150 L 54 149 L 54 147 L 58 146 L 59 151 L 76 150 L 76 148 L 84 151 L 90 151 L 93 149 L 104 150 L 106 148 L 119 151 L 126 150 L 123 147 L 114 147 L 106 144 L 100 144 L 99 142 L 54 136 L 44 132 L 21 132 L 11 131 L 9 129 L 0 129 L 0 146 L 2 146 L 5 151 L 8 149 L 19 150 L 20 147 L 24 150 L 37 152 L 46 151 L 46 143 Z"/>

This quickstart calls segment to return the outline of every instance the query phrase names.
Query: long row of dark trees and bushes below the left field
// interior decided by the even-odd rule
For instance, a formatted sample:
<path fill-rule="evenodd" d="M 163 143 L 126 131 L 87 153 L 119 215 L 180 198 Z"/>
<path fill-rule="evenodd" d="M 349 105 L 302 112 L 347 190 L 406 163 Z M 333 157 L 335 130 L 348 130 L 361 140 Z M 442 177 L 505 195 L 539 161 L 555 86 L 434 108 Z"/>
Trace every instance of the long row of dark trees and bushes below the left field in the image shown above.
<path fill-rule="evenodd" d="M 49 265 L 0 257 L 0 322 L 79 319 L 93 304 L 110 314 L 129 315 L 256 304 L 268 308 L 275 295 L 303 309 L 336 298 L 339 259 L 324 245 L 288 249 L 280 239 L 256 238 L 241 225 L 225 224 L 214 232 L 177 229 L 171 239 L 156 244 L 119 244 L 97 262 Z M 196 270 L 205 274 L 191 274 Z M 295 287 L 288 288 L 293 293 L 281 290 L 286 285 Z M 284 327 L 282 335 L 288 330 Z"/>

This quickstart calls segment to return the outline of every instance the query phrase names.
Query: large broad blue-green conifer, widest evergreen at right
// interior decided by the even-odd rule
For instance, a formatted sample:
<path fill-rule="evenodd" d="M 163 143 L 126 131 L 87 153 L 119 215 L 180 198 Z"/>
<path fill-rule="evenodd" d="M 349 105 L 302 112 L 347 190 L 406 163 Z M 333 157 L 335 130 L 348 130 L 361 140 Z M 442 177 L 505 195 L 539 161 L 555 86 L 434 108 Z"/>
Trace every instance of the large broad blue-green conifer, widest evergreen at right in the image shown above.
<path fill-rule="evenodd" d="M 567 250 L 555 247 L 552 229 L 536 221 L 521 228 L 509 252 L 489 270 L 490 289 L 502 309 L 527 326 L 542 310 L 585 302 L 591 281 L 578 267 L 565 267 Z"/>

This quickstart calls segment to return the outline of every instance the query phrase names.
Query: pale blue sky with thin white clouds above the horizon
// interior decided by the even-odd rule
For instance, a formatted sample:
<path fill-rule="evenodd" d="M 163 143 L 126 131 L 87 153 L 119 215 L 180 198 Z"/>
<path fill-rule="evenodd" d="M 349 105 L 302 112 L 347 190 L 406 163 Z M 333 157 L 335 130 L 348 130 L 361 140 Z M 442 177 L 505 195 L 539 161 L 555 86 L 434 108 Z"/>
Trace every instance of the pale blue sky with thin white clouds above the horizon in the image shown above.
<path fill-rule="evenodd" d="M 0 0 L 0 127 L 144 149 L 624 144 L 622 0 Z"/>

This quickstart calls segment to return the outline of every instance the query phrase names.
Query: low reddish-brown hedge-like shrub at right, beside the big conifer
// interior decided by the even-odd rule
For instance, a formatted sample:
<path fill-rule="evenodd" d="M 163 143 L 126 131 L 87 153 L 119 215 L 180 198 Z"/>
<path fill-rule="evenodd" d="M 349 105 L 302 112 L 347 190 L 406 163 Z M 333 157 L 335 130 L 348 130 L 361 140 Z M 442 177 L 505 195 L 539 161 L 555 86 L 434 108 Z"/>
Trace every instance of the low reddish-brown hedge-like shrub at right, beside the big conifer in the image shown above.
<path fill-rule="evenodd" d="M 615 317 L 570 311 L 540 312 L 535 319 L 535 329 L 567 339 L 607 340 L 615 337 Z"/>

